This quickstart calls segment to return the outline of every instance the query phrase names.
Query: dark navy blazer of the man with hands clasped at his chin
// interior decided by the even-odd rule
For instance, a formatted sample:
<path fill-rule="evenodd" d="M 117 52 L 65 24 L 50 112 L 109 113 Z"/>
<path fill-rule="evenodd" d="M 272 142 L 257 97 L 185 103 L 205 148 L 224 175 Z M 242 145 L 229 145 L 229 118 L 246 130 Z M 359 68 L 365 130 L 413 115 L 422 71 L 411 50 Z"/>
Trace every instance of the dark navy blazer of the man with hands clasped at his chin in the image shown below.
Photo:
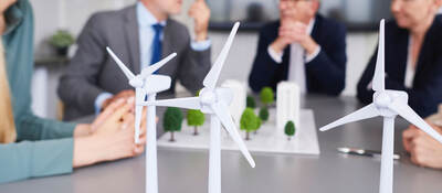
<path fill-rule="evenodd" d="M 249 85 L 254 92 L 264 86 L 276 90 L 277 83 L 286 81 L 290 67 L 291 46 L 284 50 L 283 61 L 277 64 L 267 52 L 269 45 L 278 34 L 280 21 L 269 23 L 260 32 L 256 56 Z M 316 15 L 312 37 L 320 45 L 320 53 L 305 64 L 308 93 L 339 95 L 345 87 L 346 75 L 346 29 L 343 24 Z"/>

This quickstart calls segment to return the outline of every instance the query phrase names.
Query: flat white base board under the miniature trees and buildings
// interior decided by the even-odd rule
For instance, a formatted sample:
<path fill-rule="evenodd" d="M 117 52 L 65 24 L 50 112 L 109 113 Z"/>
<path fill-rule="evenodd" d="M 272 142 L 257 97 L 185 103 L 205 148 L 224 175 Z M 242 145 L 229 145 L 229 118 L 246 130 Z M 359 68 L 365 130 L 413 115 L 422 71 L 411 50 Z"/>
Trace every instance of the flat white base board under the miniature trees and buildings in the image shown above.
<path fill-rule="evenodd" d="M 301 153 L 319 154 L 319 143 L 317 139 L 315 118 L 313 110 L 301 109 L 299 125 L 296 125 L 296 133 L 291 140 L 284 135 L 284 128 L 276 128 L 275 109 L 270 109 L 269 121 L 263 124 L 257 133 L 250 133 L 251 140 L 245 141 L 248 149 L 252 152 L 266 153 Z M 166 132 L 158 139 L 159 147 L 185 148 L 185 149 L 209 149 L 210 142 L 210 118 L 207 117 L 206 124 L 198 128 L 199 135 L 193 136 L 193 127 L 187 126 L 187 120 L 182 122 L 181 132 L 175 133 L 175 142 L 170 142 L 170 133 Z M 245 132 L 240 131 L 241 137 L 245 138 Z M 222 150 L 239 150 L 238 146 L 231 140 L 225 131 L 222 131 Z"/>

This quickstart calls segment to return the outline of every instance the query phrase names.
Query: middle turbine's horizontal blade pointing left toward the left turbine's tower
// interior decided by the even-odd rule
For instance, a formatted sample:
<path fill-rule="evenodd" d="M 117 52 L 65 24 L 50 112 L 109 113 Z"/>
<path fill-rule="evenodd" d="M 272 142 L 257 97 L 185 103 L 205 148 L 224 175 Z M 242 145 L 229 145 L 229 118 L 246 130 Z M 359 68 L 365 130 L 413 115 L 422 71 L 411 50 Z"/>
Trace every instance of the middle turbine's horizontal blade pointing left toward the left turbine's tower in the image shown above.
<path fill-rule="evenodd" d="M 200 103 L 199 97 L 144 101 L 143 105 L 144 106 L 160 106 L 160 107 L 178 107 L 178 108 L 197 109 L 197 110 L 201 109 L 201 103 Z"/>

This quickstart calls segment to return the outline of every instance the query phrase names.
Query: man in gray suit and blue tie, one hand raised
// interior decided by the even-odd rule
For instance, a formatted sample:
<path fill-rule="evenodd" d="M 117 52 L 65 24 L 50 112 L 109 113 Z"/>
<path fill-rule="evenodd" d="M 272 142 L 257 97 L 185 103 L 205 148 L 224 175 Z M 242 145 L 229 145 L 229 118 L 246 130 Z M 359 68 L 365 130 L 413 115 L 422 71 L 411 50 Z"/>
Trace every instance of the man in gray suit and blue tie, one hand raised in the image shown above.
<path fill-rule="evenodd" d="M 194 94 L 202 88 L 210 69 L 208 23 L 210 9 L 196 0 L 188 14 L 194 20 L 194 40 L 187 28 L 169 18 L 181 11 L 181 0 L 139 0 L 118 11 L 95 13 L 78 36 L 78 50 L 60 79 L 57 93 L 64 103 L 64 120 L 97 114 L 118 98 L 134 96 L 127 78 L 107 55 L 109 46 L 130 71 L 138 74 L 162 57 L 178 55 L 157 73 L 172 78 L 169 90 L 175 94 L 179 81 Z"/>

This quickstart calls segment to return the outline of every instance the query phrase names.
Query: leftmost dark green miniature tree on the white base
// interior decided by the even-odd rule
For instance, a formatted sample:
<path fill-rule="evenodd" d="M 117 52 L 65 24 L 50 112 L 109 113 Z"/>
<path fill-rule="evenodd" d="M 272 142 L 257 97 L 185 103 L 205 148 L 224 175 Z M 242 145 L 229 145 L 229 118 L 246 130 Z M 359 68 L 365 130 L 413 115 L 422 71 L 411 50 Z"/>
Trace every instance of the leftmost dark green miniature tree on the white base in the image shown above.
<path fill-rule="evenodd" d="M 182 112 L 179 108 L 168 107 L 162 120 L 165 131 L 170 132 L 170 142 L 175 141 L 173 132 L 181 130 Z"/>

